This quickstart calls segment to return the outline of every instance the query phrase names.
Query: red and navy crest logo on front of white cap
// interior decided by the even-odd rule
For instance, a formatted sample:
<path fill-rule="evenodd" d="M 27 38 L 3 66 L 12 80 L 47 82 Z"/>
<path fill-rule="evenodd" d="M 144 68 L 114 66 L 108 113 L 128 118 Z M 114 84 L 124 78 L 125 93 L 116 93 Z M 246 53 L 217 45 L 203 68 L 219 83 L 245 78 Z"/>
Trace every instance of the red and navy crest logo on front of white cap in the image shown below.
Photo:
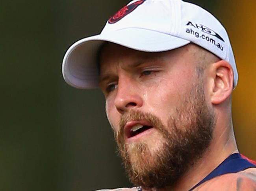
<path fill-rule="evenodd" d="M 126 5 L 125 7 L 120 9 L 114 16 L 109 18 L 108 23 L 109 24 L 116 23 L 117 21 L 124 18 L 124 16 L 126 16 L 129 13 L 131 13 L 132 11 L 134 11 L 134 9 L 136 9 L 139 5 L 143 4 L 144 2 L 145 2 L 145 0 L 139 0 L 130 5 Z"/>

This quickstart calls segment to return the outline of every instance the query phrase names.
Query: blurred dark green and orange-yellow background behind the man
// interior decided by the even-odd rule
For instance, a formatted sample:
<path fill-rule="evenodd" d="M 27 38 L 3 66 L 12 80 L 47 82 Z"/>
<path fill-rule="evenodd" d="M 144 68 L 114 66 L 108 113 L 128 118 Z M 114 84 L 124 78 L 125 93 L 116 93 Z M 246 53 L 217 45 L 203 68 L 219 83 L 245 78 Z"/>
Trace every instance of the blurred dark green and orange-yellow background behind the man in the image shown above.
<path fill-rule="evenodd" d="M 61 62 L 128 0 L 9 0 L 0 6 L 0 191 L 90 191 L 130 186 L 99 89 L 65 84 Z M 255 0 L 190 0 L 225 25 L 239 83 L 233 119 L 241 153 L 256 160 Z"/>

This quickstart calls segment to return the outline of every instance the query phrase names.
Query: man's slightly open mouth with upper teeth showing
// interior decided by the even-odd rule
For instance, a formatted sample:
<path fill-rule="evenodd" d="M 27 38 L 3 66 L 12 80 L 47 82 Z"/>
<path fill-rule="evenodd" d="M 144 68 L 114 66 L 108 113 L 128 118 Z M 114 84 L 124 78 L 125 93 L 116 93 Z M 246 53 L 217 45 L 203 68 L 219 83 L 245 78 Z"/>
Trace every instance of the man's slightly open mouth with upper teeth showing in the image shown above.
<path fill-rule="evenodd" d="M 148 122 L 128 122 L 124 126 L 124 133 L 127 138 L 132 138 L 152 128 L 153 126 Z"/>

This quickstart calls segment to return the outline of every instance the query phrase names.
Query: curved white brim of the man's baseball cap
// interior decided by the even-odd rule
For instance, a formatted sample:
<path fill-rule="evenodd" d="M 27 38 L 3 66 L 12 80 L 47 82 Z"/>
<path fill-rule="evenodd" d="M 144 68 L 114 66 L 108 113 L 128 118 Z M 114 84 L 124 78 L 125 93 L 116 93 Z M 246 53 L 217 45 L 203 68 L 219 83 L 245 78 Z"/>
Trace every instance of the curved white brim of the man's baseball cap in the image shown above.
<path fill-rule="evenodd" d="M 69 47 L 62 65 L 67 84 L 79 89 L 98 87 L 98 49 L 104 42 L 113 42 L 144 52 L 162 52 L 189 44 L 190 41 L 157 31 L 127 28 L 83 38 Z"/>

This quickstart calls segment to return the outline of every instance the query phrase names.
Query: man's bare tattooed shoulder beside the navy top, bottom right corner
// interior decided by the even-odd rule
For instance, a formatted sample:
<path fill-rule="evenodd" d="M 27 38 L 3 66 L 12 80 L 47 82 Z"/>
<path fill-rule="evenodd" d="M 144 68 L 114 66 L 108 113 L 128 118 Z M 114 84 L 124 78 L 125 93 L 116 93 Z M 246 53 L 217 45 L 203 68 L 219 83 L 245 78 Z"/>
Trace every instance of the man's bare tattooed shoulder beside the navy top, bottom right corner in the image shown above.
<path fill-rule="evenodd" d="M 198 191 L 206 190 L 256 191 L 256 168 L 217 176 L 198 188 Z"/>

